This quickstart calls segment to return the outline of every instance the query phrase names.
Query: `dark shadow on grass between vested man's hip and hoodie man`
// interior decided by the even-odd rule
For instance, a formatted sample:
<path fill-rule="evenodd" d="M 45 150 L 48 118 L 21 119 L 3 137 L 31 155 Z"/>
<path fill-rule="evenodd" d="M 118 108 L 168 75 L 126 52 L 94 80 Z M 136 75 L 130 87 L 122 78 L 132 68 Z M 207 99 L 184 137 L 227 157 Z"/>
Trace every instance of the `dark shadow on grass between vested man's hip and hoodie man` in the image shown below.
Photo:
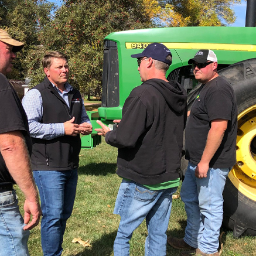
<path fill-rule="evenodd" d="M 108 175 L 114 174 L 117 169 L 116 163 L 89 163 L 88 165 L 80 166 L 78 175 Z"/>

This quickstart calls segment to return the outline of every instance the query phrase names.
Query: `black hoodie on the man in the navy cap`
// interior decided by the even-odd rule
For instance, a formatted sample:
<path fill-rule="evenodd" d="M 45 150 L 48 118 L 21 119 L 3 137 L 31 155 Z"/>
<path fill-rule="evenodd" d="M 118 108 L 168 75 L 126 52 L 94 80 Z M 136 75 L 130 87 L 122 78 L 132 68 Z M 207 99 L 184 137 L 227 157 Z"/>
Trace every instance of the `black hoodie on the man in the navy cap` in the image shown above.
<path fill-rule="evenodd" d="M 179 178 L 186 98 L 179 83 L 156 78 L 131 91 L 120 124 L 105 137 L 118 148 L 118 175 L 142 185 Z"/>

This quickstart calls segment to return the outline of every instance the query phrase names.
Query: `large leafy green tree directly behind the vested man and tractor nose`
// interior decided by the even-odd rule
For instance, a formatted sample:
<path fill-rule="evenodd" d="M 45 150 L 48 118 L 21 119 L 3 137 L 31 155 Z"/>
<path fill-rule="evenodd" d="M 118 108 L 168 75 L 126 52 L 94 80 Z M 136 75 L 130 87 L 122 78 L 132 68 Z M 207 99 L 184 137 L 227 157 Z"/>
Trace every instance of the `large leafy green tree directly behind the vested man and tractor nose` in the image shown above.
<path fill-rule="evenodd" d="M 69 56 L 70 83 L 88 94 L 101 86 L 103 69 L 103 39 L 120 30 L 148 28 L 151 18 L 145 13 L 144 0 L 67 0 L 55 12 L 50 26 L 40 32 L 39 41 L 45 51 L 59 50 Z M 28 75 L 32 83 L 39 80 L 42 53 L 28 56 Z M 33 58 L 34 57 L 34 58 Z"/>

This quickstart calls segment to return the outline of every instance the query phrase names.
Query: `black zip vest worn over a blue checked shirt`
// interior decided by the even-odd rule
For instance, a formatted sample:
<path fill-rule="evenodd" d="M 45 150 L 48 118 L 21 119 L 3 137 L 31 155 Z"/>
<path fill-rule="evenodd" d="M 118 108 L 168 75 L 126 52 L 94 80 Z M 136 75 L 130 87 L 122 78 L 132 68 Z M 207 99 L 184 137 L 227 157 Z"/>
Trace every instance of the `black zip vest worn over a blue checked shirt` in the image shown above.
<path fill-rule="evenodd" d="M 47 77 L 33 89 L 39 90 L 42 95 L 42 124 L 64 123 L 72 117 L 75 117 L 76 124 L 80 124 L 83 101 L 79 91 L 74 88 L 69 91 L 69 108 Z M 78 167 L 81 149 L 79 135 L 64 135 L 50 140 L 32 138 L 32 142 L 33 170 L 70 170 Z"/>

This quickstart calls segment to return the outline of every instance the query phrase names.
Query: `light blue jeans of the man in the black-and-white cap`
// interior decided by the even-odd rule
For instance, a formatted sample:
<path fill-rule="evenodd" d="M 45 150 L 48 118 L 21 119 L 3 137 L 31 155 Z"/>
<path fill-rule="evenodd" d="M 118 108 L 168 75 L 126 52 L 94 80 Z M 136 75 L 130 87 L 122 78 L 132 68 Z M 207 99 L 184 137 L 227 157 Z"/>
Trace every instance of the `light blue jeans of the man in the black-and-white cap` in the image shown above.
<path fill-rule="evenodd" d="M 223 220 L 223 190 L 230 168 L 210 168 L 207 178 L 194 176 L 189 162 L 180 196 L 185 203 L 187 226 L 184 241 L 207 254 L 217 252 Z"/>

